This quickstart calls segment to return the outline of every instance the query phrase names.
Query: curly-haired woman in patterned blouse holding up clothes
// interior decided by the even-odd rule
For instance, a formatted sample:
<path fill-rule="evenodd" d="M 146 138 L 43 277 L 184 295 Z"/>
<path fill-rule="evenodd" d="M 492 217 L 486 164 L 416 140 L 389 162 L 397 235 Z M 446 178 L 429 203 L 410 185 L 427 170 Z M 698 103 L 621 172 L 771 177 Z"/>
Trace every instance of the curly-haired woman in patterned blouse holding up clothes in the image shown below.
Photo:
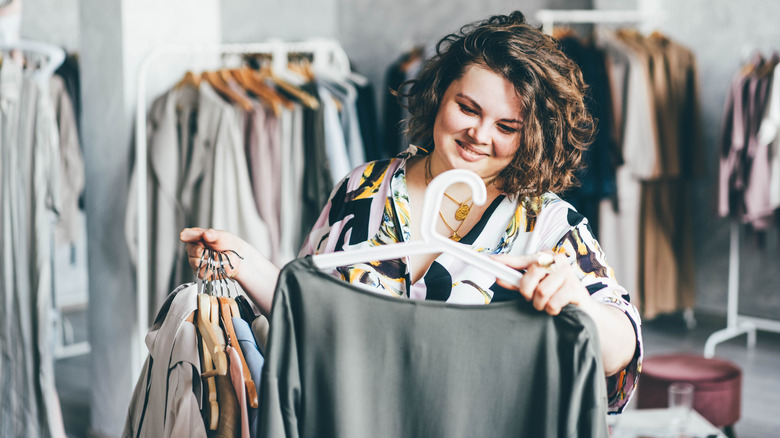
<path fill-rule="evenodd" d="M 334 189 L 301 255 L 419 240 L 430 180 L 450 169 L 472 170 L 485 181 L 488 202 L 474 205 L 465 184 L 451 186 L 438 231 L 525 270 L 519 284 L 497 284 L 440 254 L 345 266 L 334 275 L 415 299 L 486 304 L 519 292 L 551 315 L 577 305 L 598 327 L 610 411 L 622 411 L 640 367 L 639 316 L 587 219 L 554 194 L 575 183 L 594 132 L 578 68 L 514 12 L 442 39 L 437 56 L 406 85 L 409 136 L 421 146 L 353 170 Z M 190 228 L 181 239 L 193 267 L 204 245 L 244 255 L 229 274 L 270 312 L 277 267 L 224 231 Z"/>

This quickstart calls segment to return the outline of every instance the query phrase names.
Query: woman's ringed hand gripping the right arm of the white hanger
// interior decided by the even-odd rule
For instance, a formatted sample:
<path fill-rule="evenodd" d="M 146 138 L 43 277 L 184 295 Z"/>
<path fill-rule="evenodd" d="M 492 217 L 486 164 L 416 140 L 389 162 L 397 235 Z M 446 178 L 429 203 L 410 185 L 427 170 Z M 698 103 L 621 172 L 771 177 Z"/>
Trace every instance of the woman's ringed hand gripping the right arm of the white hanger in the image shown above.
<path fill-rule="evenodd" d="M 553 262 L 549 264 L 551 258 Z M 520 283 L 513 285 L 499 280 L 498 284 L 519 291 L 537 310 L 557 315 L 567 304 L 575 304 L 588 312 L 593 303 L 566 254 L 496 255 L 493 259 L 510 268 L 525 270 Z"/>

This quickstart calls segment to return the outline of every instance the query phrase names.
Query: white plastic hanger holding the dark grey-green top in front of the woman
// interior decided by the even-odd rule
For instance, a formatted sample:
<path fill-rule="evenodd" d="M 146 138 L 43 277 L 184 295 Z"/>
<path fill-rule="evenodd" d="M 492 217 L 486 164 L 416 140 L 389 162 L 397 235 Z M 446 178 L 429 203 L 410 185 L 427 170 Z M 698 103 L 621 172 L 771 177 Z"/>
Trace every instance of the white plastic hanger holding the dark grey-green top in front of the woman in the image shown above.
<path fill-rule="evenodd" d="M 425 190 L 420 223 L 422 240 L 315 255 L 312 257 L 314 264 L 320 269 L 333 269 L 360 262 L 398 259 L 418 254 L 445 253 L 478 267 L 509 284 L 517 284 L 523 276 L 517 270 L 472 250 L 468 245 L 450 240 L 436 231 L 437 212 L 444 198 L 444 191 L 456 183 L 465 183 L 471 187 L 475 205 L 482 205 L 487 201 L 487 189 L 479 175 L 465 169 L 449 170 L 434 178 Z"/>

